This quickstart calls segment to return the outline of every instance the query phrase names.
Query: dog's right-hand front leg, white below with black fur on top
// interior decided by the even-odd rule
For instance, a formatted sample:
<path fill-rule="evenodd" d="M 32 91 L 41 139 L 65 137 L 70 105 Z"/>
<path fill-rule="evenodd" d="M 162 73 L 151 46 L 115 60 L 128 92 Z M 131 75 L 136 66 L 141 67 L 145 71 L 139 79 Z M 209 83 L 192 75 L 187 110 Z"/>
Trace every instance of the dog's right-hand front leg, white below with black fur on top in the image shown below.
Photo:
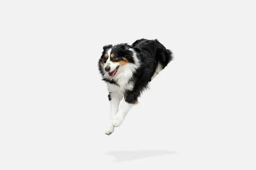
<path fill-rule="evenodd" d="M 118 113 L 113 119 L 113 127 L 118 127 L 122 125 L 122 122 L 125 120 L 127 113 L 131 110 L 132 107 L 134 107 L 134 105 L 138 103 L 138 96 L 140 96 L 140 93 L 138 91 L 128 92 L 125 95 L 125 100 L 122 102 Z"/>

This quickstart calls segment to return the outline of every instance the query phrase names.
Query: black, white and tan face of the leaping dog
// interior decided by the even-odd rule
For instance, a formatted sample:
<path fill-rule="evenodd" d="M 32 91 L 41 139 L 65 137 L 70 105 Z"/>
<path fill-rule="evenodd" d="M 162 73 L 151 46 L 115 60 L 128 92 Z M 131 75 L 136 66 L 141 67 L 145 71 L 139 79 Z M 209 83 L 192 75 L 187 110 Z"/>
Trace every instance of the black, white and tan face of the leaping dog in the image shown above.
<path fill-rule="evenodd" d="M 132 47 L 127 44 L 105 45 L 99 66 L 108 73 L 109 77 L 114 77 L 118 74 L 119 68 L 134 62 L 132 57 L 134 52 L 131 49 Z"/>

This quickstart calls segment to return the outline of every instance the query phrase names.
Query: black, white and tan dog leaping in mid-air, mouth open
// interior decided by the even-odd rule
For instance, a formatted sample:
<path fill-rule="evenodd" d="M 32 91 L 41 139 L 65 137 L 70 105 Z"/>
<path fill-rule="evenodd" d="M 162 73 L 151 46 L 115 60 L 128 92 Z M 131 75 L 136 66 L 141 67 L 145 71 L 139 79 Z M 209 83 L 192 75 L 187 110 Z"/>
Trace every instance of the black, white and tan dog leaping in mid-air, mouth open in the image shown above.
<path fill-rule="evenodd" d="M 105 134 L 122 125 L 125 116 L 138 103 L 149 82 L 173 59 L 172 51 L 157 39 L 136 40 L 131 45 L 121 43 L 103 46 L 98 67 L 107 83 L 110 102 L 110 122 Z M 123 102 L 119 103 L 123 98 Z"/>

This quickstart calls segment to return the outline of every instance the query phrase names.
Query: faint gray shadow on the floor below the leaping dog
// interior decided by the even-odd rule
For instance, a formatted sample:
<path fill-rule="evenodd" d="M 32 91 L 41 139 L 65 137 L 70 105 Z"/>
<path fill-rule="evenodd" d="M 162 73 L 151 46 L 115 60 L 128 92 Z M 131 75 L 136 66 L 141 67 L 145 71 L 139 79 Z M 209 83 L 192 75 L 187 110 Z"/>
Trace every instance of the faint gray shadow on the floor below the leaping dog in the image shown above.
<path fill-rule="evenodd" d="M 160 156 L 160 155 L 170 155 L 176 152 L 171 152 L 169 150 L 123 150 L 123 151 L 109 151 L 105 153 L 106 155 L 114 156 L 116 161 L 131 161 L 134 159 L 143 159 L 151 156 Z"/>

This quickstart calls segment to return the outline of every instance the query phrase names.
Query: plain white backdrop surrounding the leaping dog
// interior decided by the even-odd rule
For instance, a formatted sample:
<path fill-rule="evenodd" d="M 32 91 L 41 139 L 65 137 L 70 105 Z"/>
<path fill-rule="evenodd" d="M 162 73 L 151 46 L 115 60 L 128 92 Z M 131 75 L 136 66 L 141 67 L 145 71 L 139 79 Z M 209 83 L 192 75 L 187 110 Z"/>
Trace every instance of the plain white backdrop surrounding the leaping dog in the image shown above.
<path fill-rule="evenodd" d="M 1 1 L 1 170 L 255 170 L 253 1 Z M 102 46 L 174 61 L 110 136 Z"/>

